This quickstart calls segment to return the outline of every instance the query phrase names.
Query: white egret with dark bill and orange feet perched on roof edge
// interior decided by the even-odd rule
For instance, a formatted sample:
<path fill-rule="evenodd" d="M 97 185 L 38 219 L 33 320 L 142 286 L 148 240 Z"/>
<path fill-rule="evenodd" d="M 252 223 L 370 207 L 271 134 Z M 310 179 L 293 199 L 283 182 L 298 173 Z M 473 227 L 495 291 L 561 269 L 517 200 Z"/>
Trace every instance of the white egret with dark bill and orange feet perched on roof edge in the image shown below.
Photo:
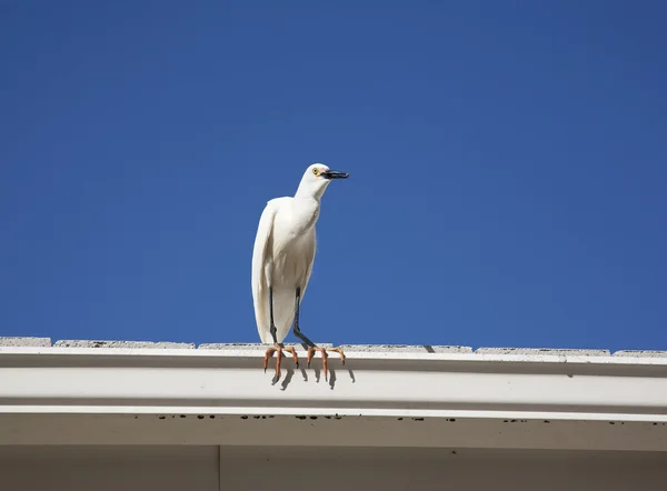
<path fill-rule="evenodd" d="M 265 372 L 269 358 L 277 353 L 276 381 L 280 379 L 283 351 L 290 353 L 299 367 L 295 348 L 282 345 L 292 323 L 293 334 L 308 347 L 308 367 L 315 353 L 321 353 L 327 380 L 327 350 L 301 332 L 299 307 L 312 272 L 320 201 L 331 181 L 347 178 L 347 172 L 312 163 L 303 172 L 295 196 L 269 200 L 259 218 L 252 249 L 252 304 L 261 342 L 273 344 L 265 353 Z M 329 351 L 339 353 L 345 364 L 341 348 L 329 348 Z"/>

